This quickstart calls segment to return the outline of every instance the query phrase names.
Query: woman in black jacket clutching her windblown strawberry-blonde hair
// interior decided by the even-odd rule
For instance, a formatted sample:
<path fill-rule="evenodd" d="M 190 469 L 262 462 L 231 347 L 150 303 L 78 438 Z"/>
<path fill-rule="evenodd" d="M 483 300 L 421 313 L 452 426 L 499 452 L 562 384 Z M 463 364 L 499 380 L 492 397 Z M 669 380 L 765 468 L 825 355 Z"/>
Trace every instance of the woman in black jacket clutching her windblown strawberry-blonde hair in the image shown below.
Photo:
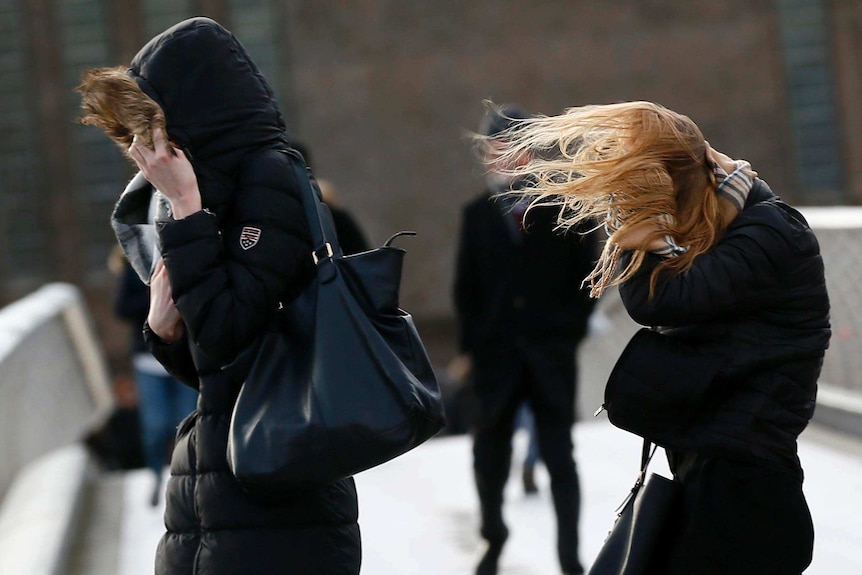
<path fill-rule="evenodd" d="M 609 239 L 586 282 L 619 285 L 638 323 L 725 358 L 706 405 L 664 446 L 680 526 L 656 572 L 799 575 L 813 527 L 797 437 L 828 345 L 823 263 L 805 219 L 688 117 L 649 102 L 573 108 L 514 126 L 535 202 Z M 655 357 L 656 366 L 669 361 Z"/>

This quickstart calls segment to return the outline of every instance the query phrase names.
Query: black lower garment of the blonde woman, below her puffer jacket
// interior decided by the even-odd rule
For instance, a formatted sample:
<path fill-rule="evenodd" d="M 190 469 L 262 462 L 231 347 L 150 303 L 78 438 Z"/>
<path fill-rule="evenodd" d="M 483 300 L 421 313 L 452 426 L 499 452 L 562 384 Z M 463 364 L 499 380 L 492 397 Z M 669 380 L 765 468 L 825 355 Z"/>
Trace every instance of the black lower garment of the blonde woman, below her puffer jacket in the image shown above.
<path fill-rule="evenodd" d="M 800 575 L 814 530 L 802 483 L 757 464 L 671 454 L 682 524 L 661 575 Z"/>

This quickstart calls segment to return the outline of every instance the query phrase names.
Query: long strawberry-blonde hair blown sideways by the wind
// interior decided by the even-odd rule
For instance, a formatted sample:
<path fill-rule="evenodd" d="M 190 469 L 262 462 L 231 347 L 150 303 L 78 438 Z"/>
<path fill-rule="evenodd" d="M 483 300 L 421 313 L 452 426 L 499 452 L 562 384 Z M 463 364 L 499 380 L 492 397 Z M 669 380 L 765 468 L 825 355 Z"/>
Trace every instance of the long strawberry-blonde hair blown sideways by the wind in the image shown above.
<path fill-rule="evenodd" d="M 663 272 L 683 273 L 709 250 L 728 222 L 715 193 L 707 144 L 687 116 L 652 102 L 626 102 L 570 108 L 559 116 L 536 116 L 494 138 L 487 151 L 501 165 L 527 177 L 532 205 L 561 206 L 561 228 L 584 220 L 617 217 L 599 261 L 585 282 L 598 297 L 611 285 L 629 279 L 641 266 L 650 242 L 670 235 L 684 254 L 664 259 L 653 271 L 650 291 Z M 672 216 L 671 219 L 661 216 Z M 617 273 L 619 242 L 635 226 L 657 224 L 622 272 Z"/>

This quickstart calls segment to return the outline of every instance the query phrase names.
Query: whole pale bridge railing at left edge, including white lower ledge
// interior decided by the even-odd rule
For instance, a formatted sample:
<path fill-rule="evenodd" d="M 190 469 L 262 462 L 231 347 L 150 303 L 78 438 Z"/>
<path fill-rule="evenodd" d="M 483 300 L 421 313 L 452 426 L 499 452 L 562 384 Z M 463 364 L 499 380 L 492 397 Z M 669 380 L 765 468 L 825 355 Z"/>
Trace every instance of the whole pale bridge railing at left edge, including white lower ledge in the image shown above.
<path fill-rule="evenodd" d="M 62 573 L 91 468 L 81 440 L 112 407 L 77 288 L 0 310 L 0 573 Z"/>

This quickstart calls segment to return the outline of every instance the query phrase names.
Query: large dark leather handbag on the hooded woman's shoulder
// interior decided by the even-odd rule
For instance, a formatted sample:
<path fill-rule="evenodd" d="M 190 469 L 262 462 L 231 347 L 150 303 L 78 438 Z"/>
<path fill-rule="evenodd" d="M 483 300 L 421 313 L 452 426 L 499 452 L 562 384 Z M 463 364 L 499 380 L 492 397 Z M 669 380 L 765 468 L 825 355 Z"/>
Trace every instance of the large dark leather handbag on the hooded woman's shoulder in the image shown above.
<path fill-rule="evenodd" d="M 404 250 L 343 256 L 328 208 L 288 152 L 317 274 L 263 334 L 230 422 L 228 464 L 252 494 L 332 483 L 416 447 L 445 425 L 431 363 L 398 307 Z"/>

